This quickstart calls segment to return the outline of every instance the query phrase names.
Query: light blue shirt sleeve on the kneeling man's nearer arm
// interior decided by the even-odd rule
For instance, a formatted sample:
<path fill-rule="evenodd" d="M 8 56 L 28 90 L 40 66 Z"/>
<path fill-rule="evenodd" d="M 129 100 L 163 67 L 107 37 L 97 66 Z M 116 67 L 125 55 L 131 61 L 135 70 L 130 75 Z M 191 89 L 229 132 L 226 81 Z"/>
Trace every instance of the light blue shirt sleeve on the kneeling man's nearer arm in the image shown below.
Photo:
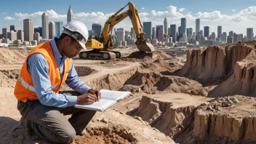
<path fill-rule="evenodd" d="M 76 105 L 76 96 L 58 94 L 52 91 L 48 75 L 49 67 L 44 55 L 36 53 L 28 57 L 28 71 L 31 73 L 33 87 L 36 89 L 36 95 L 41 104 L 62 108 Z"/>

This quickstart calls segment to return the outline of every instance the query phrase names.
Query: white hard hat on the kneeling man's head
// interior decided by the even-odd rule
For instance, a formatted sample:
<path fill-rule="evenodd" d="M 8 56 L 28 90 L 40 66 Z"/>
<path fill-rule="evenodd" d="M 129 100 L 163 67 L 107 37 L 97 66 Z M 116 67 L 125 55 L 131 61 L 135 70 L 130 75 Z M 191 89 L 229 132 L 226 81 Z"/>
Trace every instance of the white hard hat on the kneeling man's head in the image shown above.
<path fill-rule="evenodd" d="M 76 39 L 76 41 L 79 42 L 81 47 L 87 49 L 85 47 L 85 44 L 87 43 L 89 33 L 87 26 L 85 26 L 84 23 L 81 23 L 79 21 L 71 21 L 64 25 L 63 28 L 63 33 L 66 33 L 69 36 L 73 37 L 73 39 Z"/>

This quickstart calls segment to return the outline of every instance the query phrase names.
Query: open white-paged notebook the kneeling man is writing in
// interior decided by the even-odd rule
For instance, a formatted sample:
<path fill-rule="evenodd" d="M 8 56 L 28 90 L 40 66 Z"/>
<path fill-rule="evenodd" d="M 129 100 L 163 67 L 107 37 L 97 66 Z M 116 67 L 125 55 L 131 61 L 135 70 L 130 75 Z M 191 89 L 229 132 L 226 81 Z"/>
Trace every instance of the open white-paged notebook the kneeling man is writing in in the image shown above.
<path fill-rule="evenodd" d="M 100 102 L 92 103 L 92 105 L 75 105 L 76 108 L 83 108 L 92 111 L 105 111 L 105 109 L 116 104 L 124 97 L 127 97 L 131 92 L 112 91 L 107 89 L 101 89 Z"/>

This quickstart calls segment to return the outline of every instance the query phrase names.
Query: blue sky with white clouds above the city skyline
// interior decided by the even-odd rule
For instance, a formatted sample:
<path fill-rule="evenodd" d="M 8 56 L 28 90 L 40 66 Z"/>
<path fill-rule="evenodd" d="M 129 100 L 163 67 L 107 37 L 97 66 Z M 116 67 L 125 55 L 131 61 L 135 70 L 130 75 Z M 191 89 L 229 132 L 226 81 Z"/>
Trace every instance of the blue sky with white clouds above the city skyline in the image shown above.
<path fill-rule="evenodd" d="M 196 30 L 196 18 L 200 18 L 200 29 L 209 26 L 210 33 L 217 34 L 217 25 L 223 27 L 223 32 L 233 31 L 246 35 L 247 28 L 256 31 L 256 1 L 255 0 L 131 0 L 135 4 L 142 22 L 152 22 L 152 26 L 164 25 L 167 17 L 168 27 L 171 24 L 180 26 L 180 18 L 186 17 L 187 28 Z M 23 19 L 33 19 L 34 27 L 41 26 L 41 15 L 46 12 L 49 21 L 67 23 L 69 5 L 73 11 L 74 20 L 80 20 L 92 29 L 92 23 L 104 26 L 108 17 L 128 4 L 124 0 L 9 0 L 1 1 L 0 33 L 2 28 L 16 25 L 23 30 Z M 128 7 L 124 8 L 124 11 Z M 123 12 L 124 12 L 123 11 Z M 129 17 L 121 21 L 115 28 L 132 28 Z M 254 32 L 256 33 L 256 32 Z"/>

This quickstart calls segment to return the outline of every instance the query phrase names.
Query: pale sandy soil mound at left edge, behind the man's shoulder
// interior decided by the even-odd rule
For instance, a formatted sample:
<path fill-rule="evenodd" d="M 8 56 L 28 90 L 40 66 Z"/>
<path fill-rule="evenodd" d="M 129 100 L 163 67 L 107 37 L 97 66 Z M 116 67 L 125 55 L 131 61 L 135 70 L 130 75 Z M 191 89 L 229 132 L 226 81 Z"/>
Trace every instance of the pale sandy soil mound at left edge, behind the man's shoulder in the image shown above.
<path fill-rule="evenodd" d="M 23 63 L 28 55 L 27 49 L 0 49 L 0 64 Z"/>

